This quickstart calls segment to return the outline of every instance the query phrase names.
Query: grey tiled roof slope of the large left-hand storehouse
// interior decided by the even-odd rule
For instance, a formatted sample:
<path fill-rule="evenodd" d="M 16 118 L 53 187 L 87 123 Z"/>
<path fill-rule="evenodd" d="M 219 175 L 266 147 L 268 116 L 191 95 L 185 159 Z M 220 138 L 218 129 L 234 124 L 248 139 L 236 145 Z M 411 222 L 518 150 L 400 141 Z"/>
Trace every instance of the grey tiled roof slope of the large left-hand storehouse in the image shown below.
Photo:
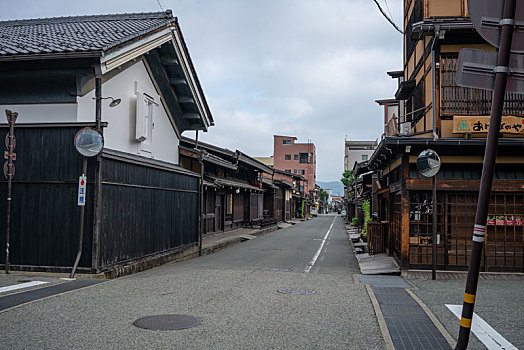
<path fill-rule="evenodd" d="M 0 22 L 0 57 L 107 52 L 174 22 L 171 11 Z"/>

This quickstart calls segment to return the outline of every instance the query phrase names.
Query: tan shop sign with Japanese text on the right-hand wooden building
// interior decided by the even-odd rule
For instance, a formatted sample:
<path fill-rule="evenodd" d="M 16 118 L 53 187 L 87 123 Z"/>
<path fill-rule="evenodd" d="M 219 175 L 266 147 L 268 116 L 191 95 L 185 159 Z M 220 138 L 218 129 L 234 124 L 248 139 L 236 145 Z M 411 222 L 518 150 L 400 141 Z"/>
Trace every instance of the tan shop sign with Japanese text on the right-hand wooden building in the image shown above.
<path fill-rule="evenodd" d="M 453 133 L 487 133 L 489 117 L 454 116 Z M 500 132 L 508 134 L 524 134 L 524 117 L 503 116 L 500 123 Z"/>

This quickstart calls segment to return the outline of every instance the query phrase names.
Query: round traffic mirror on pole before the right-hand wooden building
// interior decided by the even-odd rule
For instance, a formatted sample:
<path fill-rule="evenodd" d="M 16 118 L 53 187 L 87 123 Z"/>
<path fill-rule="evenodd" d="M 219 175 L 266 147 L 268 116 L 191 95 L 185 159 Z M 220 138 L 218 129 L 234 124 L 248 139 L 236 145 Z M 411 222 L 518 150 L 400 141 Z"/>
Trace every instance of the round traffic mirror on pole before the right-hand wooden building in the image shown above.
<path fill-rule="evenodd" d="M 417 157 L 417 169 L 420 175 L 432 178 L 433 197 L 433 239 L 431 244 L 431 279 L 437 275 L 437 173 L 440 170 L 440 157 L 432 149 L 422 151 Z"/>

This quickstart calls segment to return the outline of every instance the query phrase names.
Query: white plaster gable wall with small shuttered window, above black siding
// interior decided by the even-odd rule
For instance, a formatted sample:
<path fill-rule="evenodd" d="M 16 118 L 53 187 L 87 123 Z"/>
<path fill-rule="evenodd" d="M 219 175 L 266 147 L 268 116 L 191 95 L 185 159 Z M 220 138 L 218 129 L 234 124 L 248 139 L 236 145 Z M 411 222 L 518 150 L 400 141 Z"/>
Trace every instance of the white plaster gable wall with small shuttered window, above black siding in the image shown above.
<path fill-rule="evenodd" d="M 139 142 L 135 139 L 135 81 L 158 94 L 142 61 L 102 84 L 102 97 L 111 96 L 115 99 L 122 99 L 118 106 L 112 108 L 109 107 L 111 100 L 102 101 L 102 121 L 108 123 L 108 127 L 104 129 L 105 148 L 178 164 L 179 140 L 160 101 L 158 101 L 159 107 L 155 108 L 153 117 L 151 154 L 140 152 Z M 78 98 L 77 120 L 79 122 L 94 122 L 95 100 L 93 98 L 94 91 Z"/>

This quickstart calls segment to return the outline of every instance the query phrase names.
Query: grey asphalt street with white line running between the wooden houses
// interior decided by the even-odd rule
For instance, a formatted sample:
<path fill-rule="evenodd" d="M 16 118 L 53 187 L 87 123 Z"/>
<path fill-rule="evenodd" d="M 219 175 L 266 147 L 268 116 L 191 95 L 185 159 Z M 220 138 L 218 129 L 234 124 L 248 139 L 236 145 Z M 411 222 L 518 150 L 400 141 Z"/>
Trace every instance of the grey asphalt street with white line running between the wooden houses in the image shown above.
<path fill-rule="evenodd" d="M 0 312 L 0 348 L 383 349 L 355 273 L 342 219 L 319 216 L 212 255 Z M 284 288 L 315 294 L 278 292 Z M 160 314 L 192 315 L 202 324 L 179 331 L 133 325 Z"/>

